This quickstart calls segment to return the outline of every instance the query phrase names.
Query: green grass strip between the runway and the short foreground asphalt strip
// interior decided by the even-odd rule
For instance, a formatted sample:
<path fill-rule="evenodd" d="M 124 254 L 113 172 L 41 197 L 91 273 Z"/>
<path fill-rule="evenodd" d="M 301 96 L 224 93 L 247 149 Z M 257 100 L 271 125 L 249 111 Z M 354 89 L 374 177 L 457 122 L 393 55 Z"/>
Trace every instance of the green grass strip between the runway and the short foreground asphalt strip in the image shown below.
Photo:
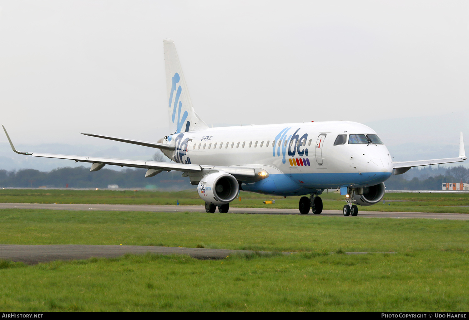
<path fill-rule="evenodd" d="M 327 252 L 460 249 L 469 221 L 199 212 L 1 209 L 2 244 Z M 403 241 L 402 239 L 405 239 Z"/>

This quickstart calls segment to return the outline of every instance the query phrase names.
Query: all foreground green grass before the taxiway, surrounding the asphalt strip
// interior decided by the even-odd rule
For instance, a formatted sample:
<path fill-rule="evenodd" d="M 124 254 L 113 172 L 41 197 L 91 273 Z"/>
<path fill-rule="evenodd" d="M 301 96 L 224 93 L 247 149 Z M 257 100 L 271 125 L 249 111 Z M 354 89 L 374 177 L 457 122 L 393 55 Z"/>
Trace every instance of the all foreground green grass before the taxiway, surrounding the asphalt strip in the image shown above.
<path fill-rule="evenodd" d="M 467 311 L 469 222 L 197 212 L 0 210 L 3 244 L 292 255 L 0 262 L 3 311 Z M 389 252 L 344 255 L 344 252 Z"/>

